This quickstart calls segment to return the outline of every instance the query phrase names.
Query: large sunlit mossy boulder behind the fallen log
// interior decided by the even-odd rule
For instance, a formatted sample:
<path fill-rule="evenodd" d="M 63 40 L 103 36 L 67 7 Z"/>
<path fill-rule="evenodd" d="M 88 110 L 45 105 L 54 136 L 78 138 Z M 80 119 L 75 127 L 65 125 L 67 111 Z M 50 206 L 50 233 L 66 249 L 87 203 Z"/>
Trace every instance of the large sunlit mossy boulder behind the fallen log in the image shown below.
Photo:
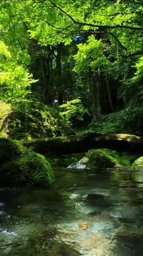
<path fill-rule="evenodd" d="M 20 140 L 72 134 L 73 130 L 54 108 L 28 100 L 15 104 L 0 101 L 0 137 Z"/>

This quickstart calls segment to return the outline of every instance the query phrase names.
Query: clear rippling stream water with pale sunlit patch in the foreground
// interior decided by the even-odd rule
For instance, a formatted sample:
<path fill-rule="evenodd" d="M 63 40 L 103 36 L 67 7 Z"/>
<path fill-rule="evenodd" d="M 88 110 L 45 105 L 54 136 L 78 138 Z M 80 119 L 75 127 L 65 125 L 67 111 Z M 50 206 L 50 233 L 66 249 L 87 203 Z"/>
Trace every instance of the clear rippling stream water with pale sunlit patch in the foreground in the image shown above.
<path fill-rule="evenodd" d="M 142 256 L 143 172 L 56 169 L 0 190 L 0 256 Z"/>

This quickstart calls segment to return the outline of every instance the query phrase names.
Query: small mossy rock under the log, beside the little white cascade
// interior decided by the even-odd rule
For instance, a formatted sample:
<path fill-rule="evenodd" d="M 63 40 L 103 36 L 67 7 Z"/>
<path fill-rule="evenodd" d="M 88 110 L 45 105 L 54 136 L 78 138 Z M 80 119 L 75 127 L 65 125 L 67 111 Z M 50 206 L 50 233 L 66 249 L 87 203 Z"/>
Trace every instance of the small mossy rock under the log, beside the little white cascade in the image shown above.
<path fill-rule="evenodd" d="M 91 154 L 86 168 L 112 168 L 118 161 L 100 149 L 95 149 Z"/>

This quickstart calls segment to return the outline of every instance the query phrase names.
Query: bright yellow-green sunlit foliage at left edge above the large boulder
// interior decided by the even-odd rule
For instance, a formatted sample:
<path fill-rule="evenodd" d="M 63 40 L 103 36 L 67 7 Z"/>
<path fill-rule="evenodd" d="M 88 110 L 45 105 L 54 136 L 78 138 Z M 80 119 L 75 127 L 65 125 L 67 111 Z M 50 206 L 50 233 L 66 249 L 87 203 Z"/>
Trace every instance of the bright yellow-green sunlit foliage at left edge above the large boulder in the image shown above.
<path fill-rule="evenodd" d="M 36 81 L 22 65 L 13 62 L 8 46 L 0 41 L 0 99 L 25 98 Z"/>

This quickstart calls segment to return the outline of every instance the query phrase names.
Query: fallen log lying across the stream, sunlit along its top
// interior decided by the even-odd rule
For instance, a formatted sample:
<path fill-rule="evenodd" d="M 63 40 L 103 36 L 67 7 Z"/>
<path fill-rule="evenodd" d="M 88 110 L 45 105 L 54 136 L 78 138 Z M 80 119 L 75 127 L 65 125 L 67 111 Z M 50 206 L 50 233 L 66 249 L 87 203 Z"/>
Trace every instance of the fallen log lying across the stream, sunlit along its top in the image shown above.
<path fill-rule="evenodd" d="M 45 154 L 54 151 L 60 154 L 82 153 L 93 148 L 109 148 L 118 152 L 143 153 L 143 138 L 129 134 L 71 135 L 67 137 L 22 139 L 22 145 L 34 146 L 34 151 Z"/>

